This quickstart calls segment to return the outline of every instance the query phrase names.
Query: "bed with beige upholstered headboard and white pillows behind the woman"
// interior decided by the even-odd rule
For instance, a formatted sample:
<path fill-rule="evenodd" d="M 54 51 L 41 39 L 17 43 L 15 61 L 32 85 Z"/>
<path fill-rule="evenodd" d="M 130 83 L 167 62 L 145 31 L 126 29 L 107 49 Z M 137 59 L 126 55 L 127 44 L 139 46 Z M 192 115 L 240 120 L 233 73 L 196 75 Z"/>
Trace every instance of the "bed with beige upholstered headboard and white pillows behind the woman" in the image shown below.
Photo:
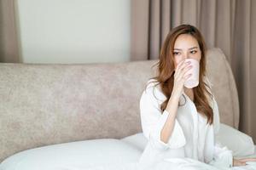
<path fill-rule="evenodd" d="M 156 62 L 0 64 L 0 170 L 137 169 L 147 144 L 139 99 Z M 220 49 L 207 51 L 207 65 L 218 142 L 256 157 L 253 139 L 237 130 L 236 83 Z"/>

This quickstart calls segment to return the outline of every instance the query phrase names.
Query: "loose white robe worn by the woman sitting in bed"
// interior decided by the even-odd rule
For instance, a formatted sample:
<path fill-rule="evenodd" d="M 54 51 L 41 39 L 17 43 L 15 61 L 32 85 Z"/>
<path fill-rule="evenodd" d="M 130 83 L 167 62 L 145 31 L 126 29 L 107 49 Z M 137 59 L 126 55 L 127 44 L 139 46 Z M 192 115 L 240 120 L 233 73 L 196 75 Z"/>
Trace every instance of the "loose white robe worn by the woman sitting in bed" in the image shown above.
<path fill-rule="evenodd" d="M 164 143 L 160 140 L 160 131 L 169 113 L 165 110 L 161 114 L 160 105 L 166 96 L 162 94 L 159 86 L 154 88 L 156 82 L 152 82 L 152 80 L 148 82 L 150 83 L 140 99 L 143 134 L 148 139 L 148 144 L 139 160 L 139 169 L 153 167 L 160 167 L 158 169 L 169 167 L 168 169 L 170 169 L 174 165 L 171 165 L 170 162 L 177 162 L 177 160 L 173 161 L 176 158 L 187 159 L 187 162 L 195 160 L 199 163 L 202 162 L 201 164 L 205 166 L 210 164 L 211 167 L 232 167 L 232 151 L 214 143 L 214 133 L 218 133 L 219 128 L 216 100 L 213 98 L 212 102 L 210 101 L 213 110 L 213 125 L 209 125 L 207 118 L 197 112 L 194 102 L 183 93 L 186 103 L 178 106 L 172 135 L 168 142 Z M 207 82 L 209 82 L 208 79 Z M 181 96 L 180 102 L 184 104 L 184 101 Z M 204 168 L 206 167 L 202 166 L 202 169 Z"/>

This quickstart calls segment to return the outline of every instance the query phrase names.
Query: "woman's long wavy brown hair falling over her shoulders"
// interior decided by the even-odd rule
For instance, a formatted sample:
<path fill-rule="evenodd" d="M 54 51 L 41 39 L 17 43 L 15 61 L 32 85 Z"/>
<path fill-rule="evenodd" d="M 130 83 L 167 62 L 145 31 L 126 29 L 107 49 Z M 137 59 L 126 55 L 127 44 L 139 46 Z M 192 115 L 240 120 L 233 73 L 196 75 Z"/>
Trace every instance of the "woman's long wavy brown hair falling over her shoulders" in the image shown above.
<path fill-rule="evenodd" d="M 172 94 L 175 69 L 175 59 L 172 52 L 174 48 L 174 43 L 177 37 L 181 34 L 189 34 L 192 37 L 195 37 L 201 49 L 199 85 L 193 88 L 194 103 L 197 111 L 200 112 L 202 115 L 207 116 L 207 123 L 212 124 L 213 112 L 211 106 L 209 105 L 209 101 L 207 100 L 207 95 L 212 98 L 212 94 L 208 91 L 210 87 L 207 85 L 206 82 L 204 82 L 204 77 L 206 76 L 207 47 L 203 37 L 201 36 L 201 32 L 197 28 L 195 28 L 195 26 L 181 25 L 175 27 L 174 29 L 172 29 L 172 31 L 168 33 L 166 40 L 160 49 L 159 62 L 156 63 L 156 65 L 158 66 L 158 76 L 151 78 L 155 79 L 155 82 L 158 82 L 157 84 L 155 84 L 155 86 L 160 84 L 161 91 L 166 96 L 166 100 L 160 105 L 160 109 L 161 111 L 164 111 L 166 109 L 166 105 Z"/>

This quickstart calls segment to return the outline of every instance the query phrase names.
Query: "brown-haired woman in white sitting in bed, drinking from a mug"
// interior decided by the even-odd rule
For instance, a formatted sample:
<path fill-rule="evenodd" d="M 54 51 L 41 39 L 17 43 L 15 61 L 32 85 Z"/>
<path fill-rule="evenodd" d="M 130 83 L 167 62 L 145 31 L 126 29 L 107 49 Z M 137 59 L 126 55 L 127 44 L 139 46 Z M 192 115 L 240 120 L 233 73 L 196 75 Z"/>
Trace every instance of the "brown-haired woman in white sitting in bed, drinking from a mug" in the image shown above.
<path fill-rule="evenodd" d="M 199 62 L 195 88 L 184 87 L 193 69 L 186 59 Z M 233 159 L 231 150 L 214 144 L 218 105 L 206 77 L 206 45 L 200 31 L 189 25 L 174 28 L 160 50 L 158 72 L 140 100 L 143 134 L 148 139 L 140 169 L 177 169 L 180 164 L 212 169 L 256 161 Z"/>

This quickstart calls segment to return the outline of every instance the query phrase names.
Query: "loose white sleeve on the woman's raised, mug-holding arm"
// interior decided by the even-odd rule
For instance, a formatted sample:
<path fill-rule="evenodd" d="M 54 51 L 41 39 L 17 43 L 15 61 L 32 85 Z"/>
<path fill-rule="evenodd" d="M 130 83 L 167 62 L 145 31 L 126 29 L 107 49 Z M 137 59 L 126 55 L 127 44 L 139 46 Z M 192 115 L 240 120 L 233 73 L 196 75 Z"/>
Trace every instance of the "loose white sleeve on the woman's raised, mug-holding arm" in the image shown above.
<path fill-rule="evenodd" d="M 154 88 L 154 86 L 148 86 L 143 91 L 140 99 L 140 115 L 143 134 L 148 139 L 148 143 L 154 149 L 177 149 L 186 143 L 183 129 L 179 122 L 177 122 L 177 118 L 175 119 L 172 135 L 170 136 L 168 142 L 165 143 L 160 140 L 160 132 L 165 125 L 169 112 L 165 110 L 163 111 L 163 114 L 161 114 L 160 105 L 155 96 L 156 93 L 160 93 L 157 90 L 159 89 Z"/>

